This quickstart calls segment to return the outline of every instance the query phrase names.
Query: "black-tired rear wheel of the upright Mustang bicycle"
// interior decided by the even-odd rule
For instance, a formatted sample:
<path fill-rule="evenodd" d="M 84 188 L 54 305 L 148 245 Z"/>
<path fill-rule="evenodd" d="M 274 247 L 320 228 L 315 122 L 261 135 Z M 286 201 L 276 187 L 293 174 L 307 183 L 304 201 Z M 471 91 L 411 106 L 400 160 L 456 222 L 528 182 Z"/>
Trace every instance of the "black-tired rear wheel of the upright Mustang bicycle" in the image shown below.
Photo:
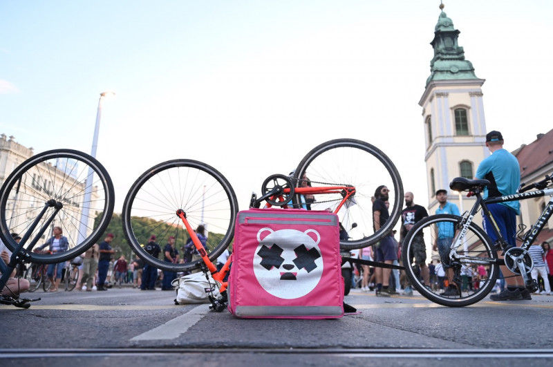
<path fill-rule="evenodd" d="M 472 293 L 469 292 L 469 290 L 467 289 L 462 290 L 460 295 L 445 296 L 441 294 L 442 290 L 440 290 L 440 288 L 435 290 L 426 288 L 422 283 L 420 277 L 415 274 L 415 265 L 412 263 L 410 254 L 413 251 L 413 247 L 416 246 L 415 242 L 417 240 L 415 238 L 417 238 L 417 236 L 422 235 L 425 244 L 433 244 L 434 241 L 438 238 L 435 229 L 436 227 L 433 226 L 444 228 L 444 230 L 447 229 L 449 233 L 454 233 L 457 235 L 458 231 L 460 230 L 459 225 L 461 221 L 462 217 L 453 216 L 451 214 L 437 214 L 434 216 L 423 218 L 418 223 L 416 223 L 413 228 L 407 233 L 402 245 L 402 261 L 405 266 L 405 273 L 407 275 L 407 278 L 409 278 L 409 281 L 411 281 L 411 285 L 413 285 L 413 287 L 415 287 L 415 289 L 418 290 L 418 292 L 420 292 L 422 296 L 429 299 L 430 301 L 449 307 L 463 307 L 467 305 L 472 305 L 486 297 L 496 284 L 496 280 L 499 274 L 499 265 L 496 262 L 498 257 L 494 245 L 491 243 L 491 240 L 489 239 L 487 234 L 484 232 L 483 229 L 478 227 L 478 225 L 471 223 L 471 225 L 469 225 L 467 233 L 465 234 L 466 248 L 465 245 L 463 245 L 462 247 L 460 246 L 458 249 L 456 249 L 456 252 L 459 252 L 460 255 L 472 256 L 473 258 L 479 257 L 482 260 L 486 258 L 489 259 L 489 263 L 485 265 L 487 276 L 483 277 L 480 280 L 481 285 Z M 440 255 L 438 252 L 433 252 L 433 258 L 431 258 L 431 261 L 435 262 L 437 260 L 440 260 Z M 425 263 L 429 263 L 429 261 L 427 260 L 425 261 Z M 478 262 L 476 260 L 467 260 L 462 262 L 462 266 L 465 266 L 465 273 L 468 274 L 470 274 L 470 268 L 468 270 L 467 268 L 474 267 L 477 264 Z"/>

